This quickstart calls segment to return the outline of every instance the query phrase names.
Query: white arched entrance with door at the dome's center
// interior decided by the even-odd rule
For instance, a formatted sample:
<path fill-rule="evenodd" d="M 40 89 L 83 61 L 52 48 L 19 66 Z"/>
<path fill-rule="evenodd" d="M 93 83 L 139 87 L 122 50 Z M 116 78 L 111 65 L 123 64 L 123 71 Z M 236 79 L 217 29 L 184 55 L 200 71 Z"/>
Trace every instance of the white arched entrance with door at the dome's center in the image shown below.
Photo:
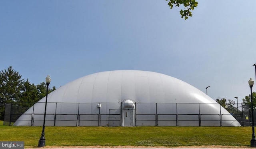
<path fill-rule="evenodd" d="M 131 99 L 122 102 L 122 126 L 135 126 L 135 104 Z"/>

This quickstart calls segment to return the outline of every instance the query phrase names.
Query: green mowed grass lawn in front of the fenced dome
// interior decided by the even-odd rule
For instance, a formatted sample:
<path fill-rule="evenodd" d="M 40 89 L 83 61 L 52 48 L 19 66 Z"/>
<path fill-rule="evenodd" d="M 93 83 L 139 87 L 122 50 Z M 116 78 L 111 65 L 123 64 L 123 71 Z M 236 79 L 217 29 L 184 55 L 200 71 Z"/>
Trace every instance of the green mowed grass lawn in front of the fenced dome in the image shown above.
<path fill-rule="evenodd" d="M 1 141 L 37 147 L 42 127 L 4 126 Z M 202 146 L 249 147 L 252 127 L 45 127 L 46 146 Z"/>

